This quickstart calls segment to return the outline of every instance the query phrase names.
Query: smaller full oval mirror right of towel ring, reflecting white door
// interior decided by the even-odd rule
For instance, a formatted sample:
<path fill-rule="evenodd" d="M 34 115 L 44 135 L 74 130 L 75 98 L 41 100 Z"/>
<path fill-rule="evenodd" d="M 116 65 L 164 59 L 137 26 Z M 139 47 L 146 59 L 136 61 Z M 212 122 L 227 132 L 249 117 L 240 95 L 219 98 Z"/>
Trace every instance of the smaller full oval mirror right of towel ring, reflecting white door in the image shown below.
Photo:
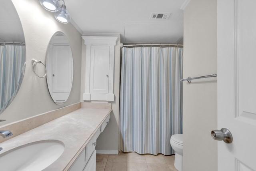
<path fill-rule="evenodd" d="M 48 45 L 46 54 L 47 85 L 53 101 L 65 103 L 73 82 L 73 57 L 64 33 L 56 32 Z"/>

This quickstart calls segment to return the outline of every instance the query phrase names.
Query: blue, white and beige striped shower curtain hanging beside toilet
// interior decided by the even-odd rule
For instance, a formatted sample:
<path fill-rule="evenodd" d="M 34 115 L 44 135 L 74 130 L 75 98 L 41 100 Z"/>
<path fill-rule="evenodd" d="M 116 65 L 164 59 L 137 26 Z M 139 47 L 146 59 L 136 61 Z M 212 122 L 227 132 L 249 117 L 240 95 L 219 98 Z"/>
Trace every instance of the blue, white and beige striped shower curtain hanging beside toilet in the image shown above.
<path fill-rule="evenodd" d="M 120 150 L 173 154 L 182 133 L 183 48 L 122 48 Z"/>

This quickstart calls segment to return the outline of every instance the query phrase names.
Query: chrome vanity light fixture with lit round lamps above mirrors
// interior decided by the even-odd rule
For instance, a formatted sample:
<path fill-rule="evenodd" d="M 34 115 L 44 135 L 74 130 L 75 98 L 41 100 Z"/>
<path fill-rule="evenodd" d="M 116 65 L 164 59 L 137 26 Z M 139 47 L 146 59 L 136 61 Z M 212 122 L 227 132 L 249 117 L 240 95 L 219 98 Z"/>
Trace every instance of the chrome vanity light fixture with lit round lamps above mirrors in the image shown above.
<path fill-rule="evenodd" d="M 62 1 L 63 4 L 60 5 L 59 2 Z M 58 22 L 69 23 L 71 20 L 70 14 L 66 9 L 64 0 L 39 0 L 40 4 L 44 9 L 55 12 L 54 16 Z"/>

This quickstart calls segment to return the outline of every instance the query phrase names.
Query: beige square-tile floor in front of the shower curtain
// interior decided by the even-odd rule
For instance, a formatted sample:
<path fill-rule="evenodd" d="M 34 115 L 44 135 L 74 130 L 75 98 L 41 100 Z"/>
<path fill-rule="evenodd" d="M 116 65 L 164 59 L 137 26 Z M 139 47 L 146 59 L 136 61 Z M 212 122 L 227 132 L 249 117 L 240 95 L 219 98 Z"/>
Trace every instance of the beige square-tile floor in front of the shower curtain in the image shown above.
<path fill-rule="evenodd" d="M 174 167 L 174 156 L 137 153 L 97 154 L 96 171 L 177 171 Z"/>

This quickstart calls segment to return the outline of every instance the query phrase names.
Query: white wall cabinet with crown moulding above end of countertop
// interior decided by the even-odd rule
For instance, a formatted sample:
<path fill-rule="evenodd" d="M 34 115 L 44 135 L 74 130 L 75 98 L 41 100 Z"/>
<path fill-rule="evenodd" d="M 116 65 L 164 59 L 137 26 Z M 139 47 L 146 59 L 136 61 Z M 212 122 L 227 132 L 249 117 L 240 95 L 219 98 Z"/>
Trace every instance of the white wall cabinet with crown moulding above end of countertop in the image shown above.
<path fill-rule="evenodd" d="M 114 53 L 117 36 L 82 36 L 86 45 L 83 100 L 114 101 Z"/>

